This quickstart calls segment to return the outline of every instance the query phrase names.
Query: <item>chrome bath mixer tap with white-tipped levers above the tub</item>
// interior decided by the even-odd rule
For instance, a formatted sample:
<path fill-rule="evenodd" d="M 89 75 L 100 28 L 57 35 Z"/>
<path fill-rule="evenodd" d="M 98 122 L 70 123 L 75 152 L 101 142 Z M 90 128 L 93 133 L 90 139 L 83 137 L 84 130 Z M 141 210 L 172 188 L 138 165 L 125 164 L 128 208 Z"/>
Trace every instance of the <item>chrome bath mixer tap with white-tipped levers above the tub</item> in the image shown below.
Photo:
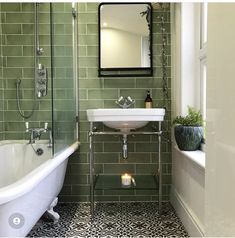
<path fill-rule="evenodd" d="M 47 133 L 49 134 L 49 143 L 48 147 L 52 147 L 52 131 L 50 128 L 48 128 L 48 123 L 45 122 L 44 128 L 39 127 L 29 127 L 29 123 L 25 122 L 25 127 L 26 127 L 26 132 L 30 133 L 30 138 L 29 138 L 29 144 L 34 144 L 36 140 L 40 140 L 42 133 Z"/>

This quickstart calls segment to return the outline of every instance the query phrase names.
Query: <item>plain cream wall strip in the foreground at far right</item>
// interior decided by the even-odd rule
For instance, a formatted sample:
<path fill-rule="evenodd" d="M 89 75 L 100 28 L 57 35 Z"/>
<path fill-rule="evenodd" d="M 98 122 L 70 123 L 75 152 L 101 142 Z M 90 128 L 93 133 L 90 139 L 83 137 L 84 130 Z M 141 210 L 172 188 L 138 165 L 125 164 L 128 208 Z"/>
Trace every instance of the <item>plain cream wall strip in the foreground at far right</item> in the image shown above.
<path fill-rule="evenodd" d="M 235 236 L 235 3 L 208 4 L 206 236 Z"/>

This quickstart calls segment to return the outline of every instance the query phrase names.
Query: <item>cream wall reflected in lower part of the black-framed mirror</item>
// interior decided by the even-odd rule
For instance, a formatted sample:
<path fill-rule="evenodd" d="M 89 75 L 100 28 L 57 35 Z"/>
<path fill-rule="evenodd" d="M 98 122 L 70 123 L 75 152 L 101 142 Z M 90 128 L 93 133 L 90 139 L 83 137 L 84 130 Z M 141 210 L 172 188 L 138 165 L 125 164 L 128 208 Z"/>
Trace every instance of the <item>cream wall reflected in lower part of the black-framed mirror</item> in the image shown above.
<path fill-rule="evenodd" d="M 141 35 L 103 28 L 101 44 L 102 68 L 141 66 Z"/>

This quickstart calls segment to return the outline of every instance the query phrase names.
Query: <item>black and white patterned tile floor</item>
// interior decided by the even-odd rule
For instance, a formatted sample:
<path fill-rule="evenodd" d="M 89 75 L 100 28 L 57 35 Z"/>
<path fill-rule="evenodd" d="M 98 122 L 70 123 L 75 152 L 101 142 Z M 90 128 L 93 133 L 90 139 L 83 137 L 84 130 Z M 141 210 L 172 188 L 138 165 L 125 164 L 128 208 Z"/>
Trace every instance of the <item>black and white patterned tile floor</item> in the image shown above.
<path fill-rule="evenodd" d="M 42 218 L 29 237 L 189 237 L 170 204 L 98 203 L 93 222 L 89 204 L 59 204 L 57 224 Z"/>

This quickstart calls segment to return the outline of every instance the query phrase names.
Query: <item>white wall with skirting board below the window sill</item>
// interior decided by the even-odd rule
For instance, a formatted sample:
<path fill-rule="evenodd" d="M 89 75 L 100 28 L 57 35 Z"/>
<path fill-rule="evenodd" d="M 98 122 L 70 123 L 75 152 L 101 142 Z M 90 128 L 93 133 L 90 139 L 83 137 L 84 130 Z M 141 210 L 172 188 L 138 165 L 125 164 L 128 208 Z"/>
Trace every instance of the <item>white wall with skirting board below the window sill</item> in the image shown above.
<path fill-rule="evenodd" d="M 173 148 L 172 171 L 171 203 L 189 235 L 204 236 L 205 168 Z"/>

